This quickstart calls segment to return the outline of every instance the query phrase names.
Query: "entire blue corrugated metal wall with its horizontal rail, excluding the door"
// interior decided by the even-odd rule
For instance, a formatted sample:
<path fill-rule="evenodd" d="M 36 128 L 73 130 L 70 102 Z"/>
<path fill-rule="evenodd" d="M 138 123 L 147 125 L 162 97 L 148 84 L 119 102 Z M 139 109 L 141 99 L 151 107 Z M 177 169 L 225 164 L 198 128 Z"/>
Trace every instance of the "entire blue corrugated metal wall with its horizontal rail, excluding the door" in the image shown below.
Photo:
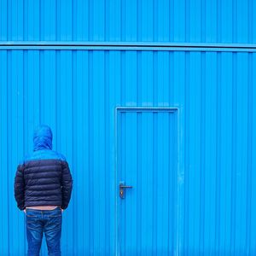
<path fill-rule="evenodd" d="M 1 255 L 26 253 L 13 182 L 38 123 L 73 172 L 63 255 L 122 253 L 117 107 L 177 108 L 170 255 L 256 254 L 256 3 L 13 0 L 0 12 Z"/>

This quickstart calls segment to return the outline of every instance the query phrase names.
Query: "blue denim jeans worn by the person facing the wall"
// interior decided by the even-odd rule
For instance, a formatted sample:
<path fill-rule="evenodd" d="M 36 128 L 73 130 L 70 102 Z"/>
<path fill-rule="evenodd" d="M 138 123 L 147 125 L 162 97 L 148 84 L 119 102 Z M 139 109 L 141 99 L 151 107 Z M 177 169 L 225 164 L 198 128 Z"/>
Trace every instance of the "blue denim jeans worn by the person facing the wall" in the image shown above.
<path fill-rule="evenodd" d="M 28 256 L 38 256 L 43 234 L 48 247 L 48 255 L 61 255 L 61 207 L 54 210 L 26 209 L 26 238 Z"/>

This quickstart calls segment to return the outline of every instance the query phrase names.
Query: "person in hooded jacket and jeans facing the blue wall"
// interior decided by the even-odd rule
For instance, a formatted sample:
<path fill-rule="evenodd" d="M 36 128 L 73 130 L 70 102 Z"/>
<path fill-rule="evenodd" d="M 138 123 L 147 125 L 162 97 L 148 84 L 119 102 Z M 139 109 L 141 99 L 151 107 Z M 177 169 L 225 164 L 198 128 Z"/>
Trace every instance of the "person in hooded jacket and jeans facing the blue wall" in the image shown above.
<path fill-rule="evenodd" d="M 49 255 L 61 255 L 61 212 L 70 201 L 73 180 L 65 157 L 52 150 L 52 132 L 40 125 L 34 151 L 17 167 L 15 200 L 26 212 L 28 255 L 39 255 L 43 233 Z"/>

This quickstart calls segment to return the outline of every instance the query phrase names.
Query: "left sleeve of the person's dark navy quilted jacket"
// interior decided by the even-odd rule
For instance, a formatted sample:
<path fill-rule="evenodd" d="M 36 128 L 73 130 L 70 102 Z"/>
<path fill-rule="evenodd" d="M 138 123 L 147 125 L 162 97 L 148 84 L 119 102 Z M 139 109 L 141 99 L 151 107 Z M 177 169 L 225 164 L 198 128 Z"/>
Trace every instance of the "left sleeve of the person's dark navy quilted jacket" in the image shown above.
<path fill-rule="evenodd" d="M 24 191 L 25 191 L 25 182 L 24 182 L 24 166 L 19 165 L 15 174 L 15 200 L 17 202 L 17 207 L 20 210 L 24 209 Z"/>

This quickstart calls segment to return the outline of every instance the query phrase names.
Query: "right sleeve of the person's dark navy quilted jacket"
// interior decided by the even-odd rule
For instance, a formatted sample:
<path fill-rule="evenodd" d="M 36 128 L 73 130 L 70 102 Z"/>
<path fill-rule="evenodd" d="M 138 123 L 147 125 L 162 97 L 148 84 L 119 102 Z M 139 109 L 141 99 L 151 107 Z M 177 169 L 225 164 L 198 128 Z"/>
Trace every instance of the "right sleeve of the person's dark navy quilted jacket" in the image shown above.
<path fill-rule="evenodd" d="M 73 179 L 67 164 L 67 161 L 64 161 L 62 164 L 62 186 L 61 186 L 61 193 L 62 193 L 62 209 L 66 209 L 68 203 L 70 201 L 71 192 L 73 188 Z"/>

